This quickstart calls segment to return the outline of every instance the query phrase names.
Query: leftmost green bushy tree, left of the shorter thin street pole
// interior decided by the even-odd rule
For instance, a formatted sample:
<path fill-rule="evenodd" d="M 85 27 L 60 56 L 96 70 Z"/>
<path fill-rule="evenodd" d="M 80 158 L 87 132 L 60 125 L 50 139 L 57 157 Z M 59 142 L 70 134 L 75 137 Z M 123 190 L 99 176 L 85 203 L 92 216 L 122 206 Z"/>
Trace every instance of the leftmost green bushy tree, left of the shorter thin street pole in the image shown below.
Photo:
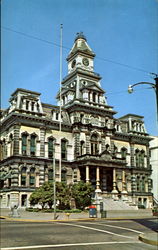
<path fill-rule="evenodd" d="M 40 204 L 42 209 L 48 204 L 49 208 L 53 205 L 53 183 L 45 182 L 41 187 L 36 189 L 30 196 L 30 204 Z"/>

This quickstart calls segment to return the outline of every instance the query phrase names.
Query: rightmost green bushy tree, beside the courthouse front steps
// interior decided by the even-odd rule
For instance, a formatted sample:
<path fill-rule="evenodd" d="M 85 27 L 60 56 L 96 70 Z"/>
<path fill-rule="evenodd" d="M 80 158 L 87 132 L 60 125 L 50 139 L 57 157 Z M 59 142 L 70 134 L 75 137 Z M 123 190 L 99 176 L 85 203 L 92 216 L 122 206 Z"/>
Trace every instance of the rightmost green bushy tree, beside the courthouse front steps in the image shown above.
<path fill-rule="evenodd" d="M 92 193 L 94 188 L 91 183 L 84 183 L 80 181 L 77 184 L 74 184 L 71 188 L 72 197 L 75 199 L 76 208 L 84 209 L 89 206 L 92 201 Z"/>

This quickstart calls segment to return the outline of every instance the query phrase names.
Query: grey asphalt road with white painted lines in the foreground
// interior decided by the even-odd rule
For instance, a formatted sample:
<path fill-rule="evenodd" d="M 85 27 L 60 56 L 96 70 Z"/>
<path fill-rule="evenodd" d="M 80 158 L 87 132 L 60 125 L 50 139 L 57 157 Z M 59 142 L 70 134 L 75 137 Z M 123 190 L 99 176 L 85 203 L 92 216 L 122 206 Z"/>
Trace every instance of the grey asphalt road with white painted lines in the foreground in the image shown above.
<path fill-rule="evenodd" d="M 18 222 L 1 220 L 1 250 L 145 250 L 140 233 L 157 229 L 156 219 Z"/>

